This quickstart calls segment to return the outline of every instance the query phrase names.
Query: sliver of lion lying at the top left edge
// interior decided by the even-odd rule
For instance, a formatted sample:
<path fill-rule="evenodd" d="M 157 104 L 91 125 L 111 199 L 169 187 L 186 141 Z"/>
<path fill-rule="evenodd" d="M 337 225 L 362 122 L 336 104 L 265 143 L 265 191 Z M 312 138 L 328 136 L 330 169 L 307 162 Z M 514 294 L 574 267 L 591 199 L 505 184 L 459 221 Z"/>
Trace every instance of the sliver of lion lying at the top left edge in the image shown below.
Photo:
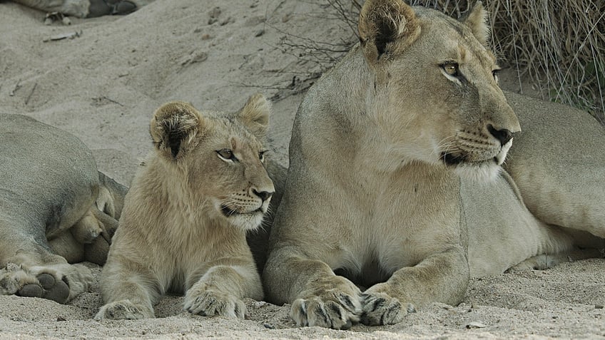
<path fill-rule="evenodd" d="M 78 18 L 129 14 L 153 0 L 12 0 L 45 12 Z"/>

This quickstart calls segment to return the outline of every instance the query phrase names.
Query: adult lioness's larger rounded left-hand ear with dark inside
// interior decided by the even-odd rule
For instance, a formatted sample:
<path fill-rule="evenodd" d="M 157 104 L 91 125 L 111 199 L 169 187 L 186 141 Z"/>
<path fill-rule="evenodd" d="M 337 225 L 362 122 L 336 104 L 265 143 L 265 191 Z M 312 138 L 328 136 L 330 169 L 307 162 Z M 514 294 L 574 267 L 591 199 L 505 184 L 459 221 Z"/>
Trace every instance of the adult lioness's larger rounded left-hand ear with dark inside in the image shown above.
<path fill-rule="evenodd" d="M 412 7 L 403 0 L 366 0 L 360 13 L 360 42 L 368 61 L 398 53 L 420 34 Z"/>

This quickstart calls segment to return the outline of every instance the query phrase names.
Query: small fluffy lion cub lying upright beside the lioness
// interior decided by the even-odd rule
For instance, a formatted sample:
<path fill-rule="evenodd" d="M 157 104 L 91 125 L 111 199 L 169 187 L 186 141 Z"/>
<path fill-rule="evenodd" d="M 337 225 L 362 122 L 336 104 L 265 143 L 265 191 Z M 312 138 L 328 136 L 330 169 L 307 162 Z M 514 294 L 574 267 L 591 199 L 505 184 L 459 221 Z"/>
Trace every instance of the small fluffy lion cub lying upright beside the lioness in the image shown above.
<path fill-rule="evenodd" d="M 265 170 L 270 103 L 260 94 L 236 113 L 166 103 L 151 119 L 155 150 L 133 180 L 107 264 L 95 319 L 153 318 L 153 305 L 185 293 L 185 309 L 243 318 L 263 299 L 246 231 L 273 195 Z"/>

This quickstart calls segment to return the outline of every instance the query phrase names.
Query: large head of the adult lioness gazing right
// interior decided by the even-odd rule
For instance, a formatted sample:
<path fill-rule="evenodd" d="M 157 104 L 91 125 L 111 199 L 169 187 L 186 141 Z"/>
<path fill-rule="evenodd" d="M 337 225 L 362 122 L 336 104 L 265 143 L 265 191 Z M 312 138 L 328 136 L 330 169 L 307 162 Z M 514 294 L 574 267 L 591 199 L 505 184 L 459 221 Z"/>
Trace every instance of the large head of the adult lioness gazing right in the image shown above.
<path fill-rule="evenodd" d="M 493 177 L 520 131 L 498 86 L 481 2 L 457 21 L 402 0 L 367 0 L 360 48 L 377 122 L 407 161 Z"/>

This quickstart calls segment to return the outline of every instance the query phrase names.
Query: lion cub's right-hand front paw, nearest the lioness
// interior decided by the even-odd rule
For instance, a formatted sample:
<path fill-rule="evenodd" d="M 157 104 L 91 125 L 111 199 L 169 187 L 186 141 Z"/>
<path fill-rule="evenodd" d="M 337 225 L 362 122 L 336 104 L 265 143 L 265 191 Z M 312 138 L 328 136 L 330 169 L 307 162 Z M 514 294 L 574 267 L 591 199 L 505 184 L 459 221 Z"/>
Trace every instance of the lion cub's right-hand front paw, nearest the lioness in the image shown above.
<path fill-rule="evenodd" d="M 201 292 L 187 292 L 185 310 L 203 316 L 218 315 L 243 319 L 245 304 L 230 294 L 208 289 Z"/>

